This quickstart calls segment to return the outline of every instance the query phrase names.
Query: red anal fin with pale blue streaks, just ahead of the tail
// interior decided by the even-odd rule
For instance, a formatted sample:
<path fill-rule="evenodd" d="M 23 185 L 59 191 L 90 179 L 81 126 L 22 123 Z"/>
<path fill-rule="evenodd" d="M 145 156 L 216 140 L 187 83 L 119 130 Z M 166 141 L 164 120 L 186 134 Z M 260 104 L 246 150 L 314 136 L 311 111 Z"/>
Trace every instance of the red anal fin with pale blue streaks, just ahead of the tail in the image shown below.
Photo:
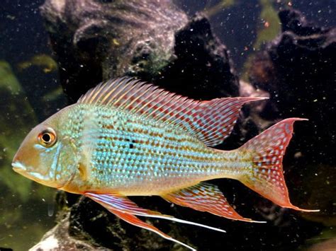
<path fill-rule="evenodd" d="M 228 201 L 225 199 L 223 193 L 220 192 L 218 187 L 206 182 L 181 189 L 177 192 L 164 194 L 162 197 L 174 204 L 187 206 L 198 211 L 207 211 L 217 216 L 238 221 L 261 222 L 252 221 L 250 218 L 244 218 L 237 214 L 232 206 L 228 204 Z"/>

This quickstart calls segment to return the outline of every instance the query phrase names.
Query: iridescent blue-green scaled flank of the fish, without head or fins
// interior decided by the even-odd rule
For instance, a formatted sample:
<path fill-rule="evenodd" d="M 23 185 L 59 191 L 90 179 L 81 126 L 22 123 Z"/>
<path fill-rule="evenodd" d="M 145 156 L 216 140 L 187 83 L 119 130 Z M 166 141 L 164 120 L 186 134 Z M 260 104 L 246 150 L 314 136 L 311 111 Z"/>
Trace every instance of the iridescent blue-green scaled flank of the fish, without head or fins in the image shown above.
<path fill-rule="evenodd" d="M 242 175 L 252 167 L 237 151 L 223 154 L 179 127 L 108 105 L 72 106 L 67 127 L 85 156 L 89 189 L 165 194 L 223 174 Z"/>

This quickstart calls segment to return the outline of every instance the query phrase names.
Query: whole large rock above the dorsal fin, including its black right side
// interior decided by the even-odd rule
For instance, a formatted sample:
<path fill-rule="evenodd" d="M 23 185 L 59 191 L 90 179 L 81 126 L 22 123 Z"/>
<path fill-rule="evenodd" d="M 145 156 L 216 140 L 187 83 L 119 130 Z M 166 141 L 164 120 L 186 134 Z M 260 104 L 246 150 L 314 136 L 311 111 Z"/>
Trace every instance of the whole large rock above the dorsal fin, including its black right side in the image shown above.
<path fill-rule="evenodd" d="M 171 1 L 49 0 L 41 11 L 72 101 L 125 75 L 194 98 L 238 95 L 228 51 L 208 20 L 188 21 Z"/>

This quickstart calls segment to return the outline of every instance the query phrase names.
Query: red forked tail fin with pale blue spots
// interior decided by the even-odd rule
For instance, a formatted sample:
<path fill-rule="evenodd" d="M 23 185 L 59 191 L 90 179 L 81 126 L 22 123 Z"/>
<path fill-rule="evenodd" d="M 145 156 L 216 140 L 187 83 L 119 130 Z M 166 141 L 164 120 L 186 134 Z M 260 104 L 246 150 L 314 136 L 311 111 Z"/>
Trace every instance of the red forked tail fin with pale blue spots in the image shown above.
<path fill-rule="evenodd" d="M 240 178 L 240 181 L 279 206 L 298 211 L 318 211 L 300 209 L 291 204 L 284 180 L 282 159 L 291 141 L 293 123 L 298 120 L 307 119 L 284 119 L 240 147 L 240 151 L 252 154 L 253 162 L 251 172 Z"/>

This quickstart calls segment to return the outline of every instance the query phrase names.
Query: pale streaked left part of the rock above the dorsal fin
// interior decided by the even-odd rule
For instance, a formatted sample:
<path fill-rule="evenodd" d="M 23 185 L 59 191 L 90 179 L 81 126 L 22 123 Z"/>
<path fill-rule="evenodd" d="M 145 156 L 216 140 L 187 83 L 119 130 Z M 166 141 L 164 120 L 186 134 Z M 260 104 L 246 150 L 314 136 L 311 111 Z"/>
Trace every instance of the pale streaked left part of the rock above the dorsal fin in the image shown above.
<path fill-rule="evenodd" d="M 72 101 L 108 78 L 158 74 L 187 22 L 170 1 L 47 0 L 41 13 Z"/>

